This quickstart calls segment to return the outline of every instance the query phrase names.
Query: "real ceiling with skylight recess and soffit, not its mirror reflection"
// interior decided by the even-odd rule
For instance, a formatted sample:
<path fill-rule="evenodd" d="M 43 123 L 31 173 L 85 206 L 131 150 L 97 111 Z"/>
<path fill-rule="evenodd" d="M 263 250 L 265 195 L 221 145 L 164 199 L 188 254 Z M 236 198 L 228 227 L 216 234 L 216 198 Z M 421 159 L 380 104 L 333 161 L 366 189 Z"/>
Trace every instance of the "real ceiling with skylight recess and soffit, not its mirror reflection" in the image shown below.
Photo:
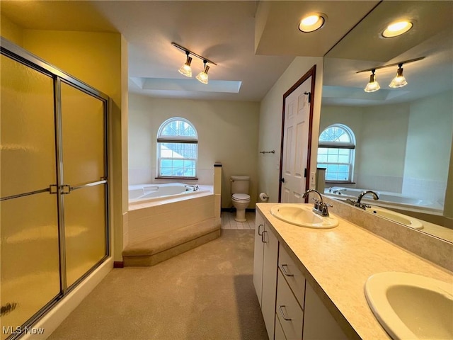
<path fill-rule="evenodd" d="M 358 1 L 352 6 L 349 1 L 2 0 L 0 4 L 2 13 L 23 28 L 122 33 L 129 43 L 130 92 L 260 101 L 294 57 L 322 57 L 377 2 Z M 311 34 L 299 32 L 300 18 L 311 11 L 326 13 L 328 25 Z M 262 35 L 256 40 L 257 22 Z M 171 42 L 217 63 L 210 67 L 210 84 L 200 86 L 195 80 L 203 67 L 197 58 L 193 79 L 178 73 L 185 54 Z M 239 93 L 220 92 L 222 81 L 238 81 Z"/>

